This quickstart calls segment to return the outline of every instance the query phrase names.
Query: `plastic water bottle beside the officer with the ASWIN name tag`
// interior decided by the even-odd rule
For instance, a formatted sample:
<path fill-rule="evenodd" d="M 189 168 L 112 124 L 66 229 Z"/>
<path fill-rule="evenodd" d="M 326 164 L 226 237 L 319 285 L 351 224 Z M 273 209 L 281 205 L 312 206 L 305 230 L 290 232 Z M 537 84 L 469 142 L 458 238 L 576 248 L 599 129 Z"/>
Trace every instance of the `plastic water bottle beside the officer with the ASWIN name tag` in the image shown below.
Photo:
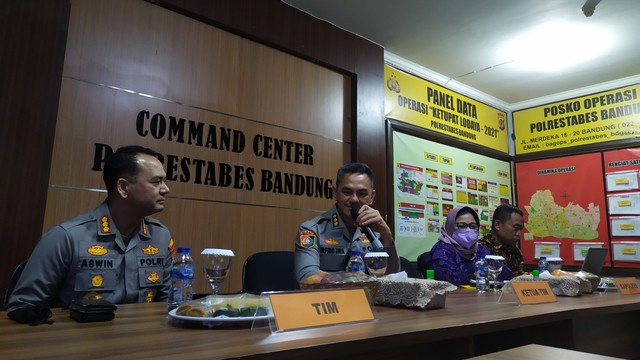
<path fill-rule="evenodd" d="M 193 274 L 195 266 L 188 247 L 178 248 L 171 264 L 171 291 L 167 300 L 169 310 L 193 299 Z"/>

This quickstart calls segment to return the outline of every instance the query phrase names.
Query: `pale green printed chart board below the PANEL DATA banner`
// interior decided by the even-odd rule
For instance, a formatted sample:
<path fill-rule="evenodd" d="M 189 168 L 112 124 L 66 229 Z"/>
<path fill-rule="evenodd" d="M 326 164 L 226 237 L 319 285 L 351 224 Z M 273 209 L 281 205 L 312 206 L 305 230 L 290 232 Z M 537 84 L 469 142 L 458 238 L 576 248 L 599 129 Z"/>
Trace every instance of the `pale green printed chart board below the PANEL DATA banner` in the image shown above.
<path fill-rule="evenodd" d="M 452 208 L 476 210 L 486 232 L 493 210 L 512 200 L 507 161 L 395 131 L 393 164 L 396 248 L 411 261 L 438 241 Z"/>

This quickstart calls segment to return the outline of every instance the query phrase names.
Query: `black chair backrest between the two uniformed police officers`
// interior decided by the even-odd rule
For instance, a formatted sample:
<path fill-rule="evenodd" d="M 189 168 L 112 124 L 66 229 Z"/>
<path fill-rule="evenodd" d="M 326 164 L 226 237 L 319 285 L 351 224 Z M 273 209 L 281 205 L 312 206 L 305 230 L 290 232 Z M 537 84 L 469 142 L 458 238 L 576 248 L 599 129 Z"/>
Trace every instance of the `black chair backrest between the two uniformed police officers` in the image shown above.
<path fill-rule="evenodd" d="M 242 266 L 242 290 L 251 294 L 263 291 L 297 290 L 293 274 L 293 251 L 266 251 L 250 255 Z"/>

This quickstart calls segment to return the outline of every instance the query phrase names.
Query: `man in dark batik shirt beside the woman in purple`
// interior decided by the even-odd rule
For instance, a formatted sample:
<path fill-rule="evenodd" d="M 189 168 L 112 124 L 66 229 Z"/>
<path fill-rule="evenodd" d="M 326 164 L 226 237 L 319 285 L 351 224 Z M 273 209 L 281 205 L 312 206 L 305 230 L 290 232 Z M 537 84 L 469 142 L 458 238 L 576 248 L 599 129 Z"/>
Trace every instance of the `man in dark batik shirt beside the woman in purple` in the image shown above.
<path fill-rule="evenodd" d="M 524 259 L 519 247 L 522 228 L 522 210 L 510 204 L 500 205 L 493 213 L 491 232 L 478 240 L 492 254 L 504 257 L 504 264 L 511 269 L 514 277 L 524 272 Z"/>

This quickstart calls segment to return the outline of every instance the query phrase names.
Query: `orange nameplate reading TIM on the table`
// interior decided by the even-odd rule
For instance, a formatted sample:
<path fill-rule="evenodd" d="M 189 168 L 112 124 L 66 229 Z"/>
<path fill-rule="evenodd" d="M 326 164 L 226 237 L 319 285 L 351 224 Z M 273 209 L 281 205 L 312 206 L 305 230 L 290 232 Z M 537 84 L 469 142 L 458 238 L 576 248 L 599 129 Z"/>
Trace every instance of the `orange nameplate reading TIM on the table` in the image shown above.
<path fill-rule="evenodd" d="M 269 300 L 276 331 L 376 319 L 362 288 L 273 293 Z"/>

